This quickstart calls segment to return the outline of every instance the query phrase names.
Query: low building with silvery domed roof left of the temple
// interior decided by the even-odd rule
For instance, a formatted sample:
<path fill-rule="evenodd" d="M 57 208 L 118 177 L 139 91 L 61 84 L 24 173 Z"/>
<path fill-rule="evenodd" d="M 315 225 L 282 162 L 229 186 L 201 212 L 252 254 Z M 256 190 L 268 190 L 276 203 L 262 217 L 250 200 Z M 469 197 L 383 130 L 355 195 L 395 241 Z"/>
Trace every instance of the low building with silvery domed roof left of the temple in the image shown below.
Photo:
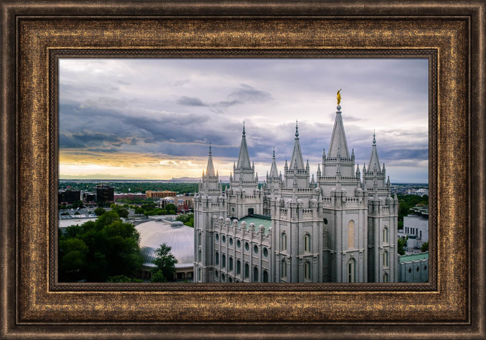
<path fill-rule="evenodd" d="M 155 268 L 155 251 L 165 243 L 171 247 L 171 253 L 177 259 L 175 279 L 192 280 L 194 264 L 194 229 L 181 221 L 154 220 L 135 227 L 140 233 L 140 255 L 143 256 L 142 276 L 151 277 Z M 168 278 L 169 279 L 169 278 Z"/>

